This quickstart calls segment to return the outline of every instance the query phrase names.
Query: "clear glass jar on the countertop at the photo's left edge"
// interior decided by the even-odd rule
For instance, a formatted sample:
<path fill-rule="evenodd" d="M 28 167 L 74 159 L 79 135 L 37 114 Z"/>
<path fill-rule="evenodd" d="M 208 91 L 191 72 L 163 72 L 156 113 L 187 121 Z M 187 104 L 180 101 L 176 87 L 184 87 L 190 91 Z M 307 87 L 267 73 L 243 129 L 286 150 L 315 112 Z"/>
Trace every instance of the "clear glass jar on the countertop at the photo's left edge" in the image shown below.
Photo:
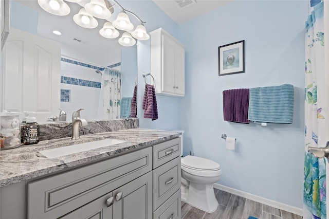
<path fill-rule="evenodd" d="M 19 113 L 0 113 L 1 150 L 20 147 L 21 124 Z"/>

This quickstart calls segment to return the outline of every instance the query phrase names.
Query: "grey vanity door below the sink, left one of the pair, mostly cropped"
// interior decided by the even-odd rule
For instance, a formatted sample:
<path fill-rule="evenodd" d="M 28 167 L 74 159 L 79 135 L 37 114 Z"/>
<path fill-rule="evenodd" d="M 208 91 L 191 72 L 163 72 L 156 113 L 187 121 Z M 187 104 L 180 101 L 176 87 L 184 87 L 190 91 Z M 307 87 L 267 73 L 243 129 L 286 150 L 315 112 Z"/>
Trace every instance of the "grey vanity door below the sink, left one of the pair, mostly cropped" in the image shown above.
<path fill-rule="evenodd" d="M 112 192 L 72 211 L 60 219 L 112 219 L 114 197 Z"/>

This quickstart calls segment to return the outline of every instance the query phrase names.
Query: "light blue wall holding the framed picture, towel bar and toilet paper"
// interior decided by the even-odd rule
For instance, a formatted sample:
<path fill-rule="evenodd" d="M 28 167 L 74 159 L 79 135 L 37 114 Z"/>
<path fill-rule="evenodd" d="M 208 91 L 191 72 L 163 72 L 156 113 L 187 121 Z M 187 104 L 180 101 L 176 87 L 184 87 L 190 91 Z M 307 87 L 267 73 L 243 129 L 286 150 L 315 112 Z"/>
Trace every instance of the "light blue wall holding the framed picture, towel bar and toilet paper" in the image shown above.
<path fill-rule="evenodd" d="M 186 96 L 179 103 L 184 154 L 220 163 L 218 184 L 302 208 L 306 1 L 235 1 L 179 26 Z M 218 77 L 218 46 L 245 40 L 245 73 Z M 224 121 L 222 92 L 295 87 L 294 122 L 262 127 Z M 235 137 L 226 149 L 222 134 Z"/>

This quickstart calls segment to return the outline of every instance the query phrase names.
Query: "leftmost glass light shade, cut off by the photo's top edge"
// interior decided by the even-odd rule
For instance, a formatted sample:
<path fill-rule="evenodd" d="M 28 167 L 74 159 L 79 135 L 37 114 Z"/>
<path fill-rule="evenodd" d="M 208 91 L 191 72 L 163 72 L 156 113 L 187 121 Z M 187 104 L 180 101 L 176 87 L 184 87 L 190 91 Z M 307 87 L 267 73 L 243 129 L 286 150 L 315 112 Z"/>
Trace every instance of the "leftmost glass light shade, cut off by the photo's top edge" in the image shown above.
<path fill-rule="evenodd" d="M 48 13 L 65 16 L 70 13 L 70 8 L 63 0 L 38 0 L 40 7 Z"/>

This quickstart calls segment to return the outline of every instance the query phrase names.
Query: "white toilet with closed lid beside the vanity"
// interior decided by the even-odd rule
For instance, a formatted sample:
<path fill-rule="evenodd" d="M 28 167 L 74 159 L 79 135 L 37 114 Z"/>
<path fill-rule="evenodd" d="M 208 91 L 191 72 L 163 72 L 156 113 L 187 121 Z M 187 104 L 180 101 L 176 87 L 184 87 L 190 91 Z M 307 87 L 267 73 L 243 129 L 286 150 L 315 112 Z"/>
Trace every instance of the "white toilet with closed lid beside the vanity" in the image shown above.
<path fill-rule="evenodd" d="M 179 132 L 184 133 L 184 131 Z M 180 137 L 182 139 L 182 136 Z M 218 202 L 214 194 L 213 184 L 222 175 L 221 166 L 215 161 L 190 155 L 182 157 L 180 161 L 181 199 L 208 213 L 214 212 Z"/>

